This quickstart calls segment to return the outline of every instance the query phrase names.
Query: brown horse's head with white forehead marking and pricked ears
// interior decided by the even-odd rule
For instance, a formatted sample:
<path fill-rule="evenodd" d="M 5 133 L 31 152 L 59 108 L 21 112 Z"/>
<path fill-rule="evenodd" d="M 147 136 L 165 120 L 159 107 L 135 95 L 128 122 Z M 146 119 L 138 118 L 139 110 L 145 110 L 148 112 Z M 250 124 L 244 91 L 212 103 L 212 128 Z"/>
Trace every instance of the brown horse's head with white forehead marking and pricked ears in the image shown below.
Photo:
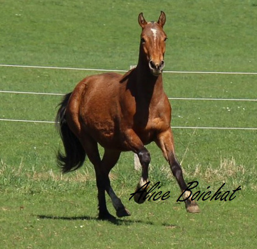
<path fill-rule="evenodd" d="M 144 63 L 148 64 L 150 72 L 154 76 L 161 74 L 164 68 L 165 41 L 167 35 L 163 31 L 166 16 L 163 11 L 157 22 L 146 21 L 143 13 L 138 15 L 138 23 L 142 27 L 140 41 L 140 56 Z"/>

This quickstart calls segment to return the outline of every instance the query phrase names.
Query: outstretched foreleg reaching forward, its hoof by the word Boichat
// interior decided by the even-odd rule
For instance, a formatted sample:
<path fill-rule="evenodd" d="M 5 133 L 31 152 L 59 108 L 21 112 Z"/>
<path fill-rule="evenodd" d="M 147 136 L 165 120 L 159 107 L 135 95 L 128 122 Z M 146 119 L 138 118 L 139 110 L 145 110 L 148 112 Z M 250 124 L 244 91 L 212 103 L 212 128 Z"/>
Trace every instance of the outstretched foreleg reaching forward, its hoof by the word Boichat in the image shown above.
<path fill-rule="evenodd" d="M 160 147 L 165 159 L 169 162 L 172 174 L 176 178 L 181 192 L 184 193 L 183 194 L 184 199 L 186 199 L 190 194 L 190 192 L 185 191 L 188 186 L 184 180 L 181 166 L 175 157 L 174 141 L 173 141 L 173 135 L 172 135 L 171 129 L 168 129 L 167 131 L 159 134 L 156 140 L 156 144 Z M 190 213 L 200 212 L 197 203 L 195 201 L 191 201 L 191 199 L 187 199 L 185 201 L 185 205 L 186 205 L 187 212 L 190 212 Z"/>

